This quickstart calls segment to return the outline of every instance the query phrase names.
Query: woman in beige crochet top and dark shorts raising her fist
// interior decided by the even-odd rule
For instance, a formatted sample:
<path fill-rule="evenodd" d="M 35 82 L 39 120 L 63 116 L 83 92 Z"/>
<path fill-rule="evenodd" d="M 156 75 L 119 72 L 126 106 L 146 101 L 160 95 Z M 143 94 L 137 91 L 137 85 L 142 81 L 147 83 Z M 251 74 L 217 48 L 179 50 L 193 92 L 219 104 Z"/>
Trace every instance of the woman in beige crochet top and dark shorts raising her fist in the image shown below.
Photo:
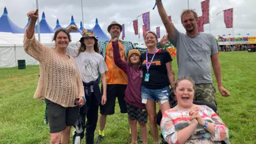
<path fill-rule="evenodd" d="M 43 45 L 35 38 L 38 10 L 27 15 L 30 22 L 24 35 L 24 48 L 40 64 L 40 77 L 34 98 L 45 99 L 51 143 L 59 143 L 60 140 L 61 143 L 68 143 L 70 126 L 74 125 L 78 115 L 78 107 L 74 105 L 74 101 L 78 98 L 77 105 L 84 105 L 86 101 L 76 63 L 66 55 L 71 38 L 66 29 L 59 29 L 53 38 L 55 49 Z"/>

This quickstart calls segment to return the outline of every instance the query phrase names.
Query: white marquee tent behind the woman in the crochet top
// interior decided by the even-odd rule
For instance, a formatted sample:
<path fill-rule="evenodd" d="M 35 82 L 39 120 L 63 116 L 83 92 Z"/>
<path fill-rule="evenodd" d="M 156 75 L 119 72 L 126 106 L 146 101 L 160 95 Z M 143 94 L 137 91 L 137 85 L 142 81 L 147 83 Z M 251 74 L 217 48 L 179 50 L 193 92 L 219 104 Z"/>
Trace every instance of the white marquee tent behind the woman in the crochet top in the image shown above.
<path fill-rule="evenodd" d="M 41 34 L 41 43 L 54 47 L 52 42 L 54 34 Z M 70 45 L 76 46 L 81 38 L 80 33 L 71 33 L 72 42 Z M 38 35 L 35 34 L 36 39 Z M 79 42 L 77 45 L 79 46 Z M 0 32 L 0 68 L 17 67 L 18 60 L 26 60 L 26 65 L 38 65 L 38 61 L 30 57 L 23 47 L 23 34 L 3 33 Z"/>

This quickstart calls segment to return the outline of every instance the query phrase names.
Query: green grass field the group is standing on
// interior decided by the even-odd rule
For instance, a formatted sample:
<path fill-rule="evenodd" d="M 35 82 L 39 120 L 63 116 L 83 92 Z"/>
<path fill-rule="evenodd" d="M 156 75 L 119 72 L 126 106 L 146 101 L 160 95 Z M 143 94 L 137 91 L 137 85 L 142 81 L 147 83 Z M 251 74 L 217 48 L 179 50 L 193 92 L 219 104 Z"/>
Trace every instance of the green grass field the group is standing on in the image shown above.
<path fill-rule="evenodd" d="M 256 53 L 221 52 L 222 83 L 230 97 L 217 92 L 220 117 L 229 128 L 231 143 L 256 143 Z M 173 68 L 177 70 L 174 59 Z M 38 82 L 38 66 L 24 70 L 0 69 L 0 143 L 49 143 L 49 126 L 43 122 L 45 104 L 33 98 Z M 214 85 L 216 86 L 213 75 Z M 98 126 L 95 139 L 98 135 Z M 109 116 L 102 143 L 129 143 L 127 117 Z M 85 143 L 85 141 L 83 141 Z M 153 140 L 149 134 L 149 142 Z"/>

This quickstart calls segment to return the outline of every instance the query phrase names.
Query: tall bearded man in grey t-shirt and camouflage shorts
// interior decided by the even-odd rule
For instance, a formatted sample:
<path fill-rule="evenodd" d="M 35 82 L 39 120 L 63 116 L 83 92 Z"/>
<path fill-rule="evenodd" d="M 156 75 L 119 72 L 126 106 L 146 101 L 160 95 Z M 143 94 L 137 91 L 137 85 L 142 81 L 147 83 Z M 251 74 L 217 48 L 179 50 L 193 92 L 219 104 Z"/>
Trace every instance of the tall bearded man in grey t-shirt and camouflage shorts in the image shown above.
<path fill-rule="evenodd" d="M 156 0 L 158 2 L 159 0 Z M 229 92 L 222 86 L 222 76 L 218 51 L 220 47 L 211 34 L 197 30 L 198 17 L 193 10 L 185 10 L 181 14 L 181 22 L 186 34 L 180 33 L 169 20 L 162 2 L 157 4 L 158 13 L 168 33 L 169 41 L 177 49 L 178 76 L 193 79 L 196 84 L 194 100 L 210 102 L 217 106 L 215 88 L 212 84 L 211 63 L 218 83 L 218 89 L 224 97 Z"/>

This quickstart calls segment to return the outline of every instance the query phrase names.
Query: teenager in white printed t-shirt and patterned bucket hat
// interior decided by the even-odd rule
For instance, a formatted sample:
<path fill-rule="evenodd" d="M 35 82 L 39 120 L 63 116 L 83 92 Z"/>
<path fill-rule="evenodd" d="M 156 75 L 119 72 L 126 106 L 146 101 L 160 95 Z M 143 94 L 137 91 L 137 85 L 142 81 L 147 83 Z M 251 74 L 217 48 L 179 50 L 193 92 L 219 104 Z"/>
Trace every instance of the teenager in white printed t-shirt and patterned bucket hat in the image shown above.
<path fill-rule="evenodd" d="M 70 26 L 69 31 L 76 31 L 75 26 Z M 75 58 L 77 68 L 81 75 L 86 103 L 81 107 L 80 114 L 82 115 L 82 120 L 86 121 L 86 143 L 94 143 L 94 131 L 97 126 L 98 121 L 98 108 L 99 104 L 105 105 L 107 101 L 106 89 L 107 81 L 105 76 L 105 71 L 108 71 L 105 60 L 102 55 L 99 54 L 98 47 L 98 37 L 91 29 L 85 29 L 82 33 L 82 38 L 80 39 L 81 46 L 79 48 L 74 48 L 68 46 L 67 54 Z M 103 94 L 100 94 L 100 88 L 98 85 L 98 77 L 101 75 Z M 83 128 L 84 129 L 84 128 Z M 73 141 L 76 137 L 76 133 L 73 132 Z M 84 137 L 84 130 L 81 135 L 81 139 Z"/>

